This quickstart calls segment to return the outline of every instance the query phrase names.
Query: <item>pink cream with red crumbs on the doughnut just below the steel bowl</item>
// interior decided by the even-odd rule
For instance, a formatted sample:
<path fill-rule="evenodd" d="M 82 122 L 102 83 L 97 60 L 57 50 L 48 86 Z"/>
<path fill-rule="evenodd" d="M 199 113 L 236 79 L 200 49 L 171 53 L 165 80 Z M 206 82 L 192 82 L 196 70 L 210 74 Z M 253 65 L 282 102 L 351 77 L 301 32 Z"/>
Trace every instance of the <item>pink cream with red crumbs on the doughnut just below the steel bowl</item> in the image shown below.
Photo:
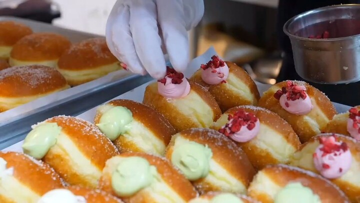
<path fill-rule="evenodd" d="M 286 87 L 277 90 L 274 97 L 279 100 L 280 106 L 291 114 L 305 115 L 313 108 L 305 86 L 296 85 L 292 81 L 287 81 Z"/>

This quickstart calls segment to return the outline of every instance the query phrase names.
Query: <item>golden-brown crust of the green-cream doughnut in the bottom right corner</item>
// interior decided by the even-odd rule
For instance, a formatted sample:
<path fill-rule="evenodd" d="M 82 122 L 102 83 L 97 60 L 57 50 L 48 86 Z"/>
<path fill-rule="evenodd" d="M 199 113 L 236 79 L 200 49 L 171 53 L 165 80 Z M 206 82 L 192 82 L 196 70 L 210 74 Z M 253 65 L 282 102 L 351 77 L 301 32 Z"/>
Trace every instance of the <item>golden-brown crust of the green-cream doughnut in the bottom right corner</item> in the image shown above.
<path fill-rule="evenodd" d="M 303 186 L 311 188 L 312 191 L 320 197 L 321 202 L 323 203 L 348 202 L 348 198 L 335 185 L 310 171 L 279 164 L 266 166 L 259 171 L 259 173 L 260 172 L 264 173 L 273 183 L 281 188 L 294 181 L 300 182 Z M 254 180 L 255 179 L 256 176 Z M 252 184 L 254 183 L 250 183 L 248 190 L 248 195 L 250 197 L 264 203 L 273 202 L 266 194 L 257 193 L 255 190 L 252 190 Z M 256 184 L 261 184 L 261 182 L 256 182 Z"/>

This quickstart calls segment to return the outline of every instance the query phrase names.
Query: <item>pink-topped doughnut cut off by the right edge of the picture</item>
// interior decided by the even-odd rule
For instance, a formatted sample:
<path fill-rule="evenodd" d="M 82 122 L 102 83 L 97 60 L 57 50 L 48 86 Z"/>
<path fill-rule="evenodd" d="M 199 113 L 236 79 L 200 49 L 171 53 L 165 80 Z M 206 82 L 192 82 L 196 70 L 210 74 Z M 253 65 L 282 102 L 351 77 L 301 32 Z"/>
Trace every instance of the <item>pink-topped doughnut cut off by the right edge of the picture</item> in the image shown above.
<path fill-rule="evenodd" d="M 351 136 L 360 141 L 360 106 L 355 106 L 348 112 L 336 114 L 327 123 L 324 132 Z"/>

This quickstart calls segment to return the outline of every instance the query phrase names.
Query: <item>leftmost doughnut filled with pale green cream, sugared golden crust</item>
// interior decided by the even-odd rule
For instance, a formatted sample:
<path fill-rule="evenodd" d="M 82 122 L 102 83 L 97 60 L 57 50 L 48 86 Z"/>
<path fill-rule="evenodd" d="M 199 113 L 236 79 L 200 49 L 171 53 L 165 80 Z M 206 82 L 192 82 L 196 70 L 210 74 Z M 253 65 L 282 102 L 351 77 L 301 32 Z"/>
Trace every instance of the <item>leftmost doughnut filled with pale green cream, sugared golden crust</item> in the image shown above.
<path fill-rule="evenodd" d="M 48 163 L 69 184 L 89 188 L 97 186 L 106 160 L 118 154 L 94 124 L 70 116 L 55 116 L 33 125 L 22 149 Z"/>

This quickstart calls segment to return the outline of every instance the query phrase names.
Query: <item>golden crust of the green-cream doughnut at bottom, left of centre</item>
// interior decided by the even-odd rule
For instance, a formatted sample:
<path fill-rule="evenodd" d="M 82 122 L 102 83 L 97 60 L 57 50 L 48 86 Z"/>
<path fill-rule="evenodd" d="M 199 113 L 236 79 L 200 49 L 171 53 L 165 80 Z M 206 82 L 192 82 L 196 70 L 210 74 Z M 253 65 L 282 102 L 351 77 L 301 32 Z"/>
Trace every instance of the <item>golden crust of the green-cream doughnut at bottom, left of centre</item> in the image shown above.
<path fill-rule="evenodd" d="M 162 180 L 166 182 L 166 184 L 172 188 L 174 192 L 176 192 L 179 196 L 181 196 L 185 201 L 188 201 L 194 197 L 196 197 L 197 193 L 195 188 L 191 185 L 191 183 L 178 171 L 176 170 L 172 164 L 164 158 L 145 154 L 141 152 L 124 152 L 118 155 L 120 157 L 131 157 L 131 156 L 139 156 L 145 158 L 150 165 L 156 167 L 158 174 L 161 175 Z M 111 178 L 107 176 L 109 174 L 103 174 L 99 180 L 99 188 L 103 191 L 109 192 L 112 195 L 116 195 L 112 190 L 111 186 Z M 146 192 L 143 190 L 137 192 L 136 194 L 122 198 L 124 202 L 152 202 L 146 199 L 151 197 L 148 196 Z"/>

